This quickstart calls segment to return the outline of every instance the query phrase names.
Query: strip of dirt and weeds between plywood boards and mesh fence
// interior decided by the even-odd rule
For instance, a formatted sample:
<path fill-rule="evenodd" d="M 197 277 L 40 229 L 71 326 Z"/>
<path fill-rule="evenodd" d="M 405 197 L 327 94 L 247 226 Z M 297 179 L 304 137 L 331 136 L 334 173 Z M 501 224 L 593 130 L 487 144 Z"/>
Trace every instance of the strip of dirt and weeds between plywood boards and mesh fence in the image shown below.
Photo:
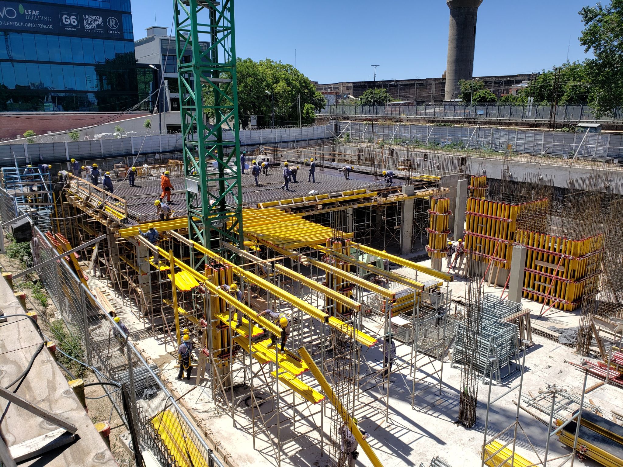
<path fill-rule="evenodd" d="M 8 245 L 7 238 L 5 238 L 5 245 Z M 21 265 L 19 260 L 9 258 L 6 255 L 0 255 L 0 267 L 2 268 L 2 272 L 9 273 L 17 273 L 24 269 L 23 265 Z M 29 277 L 29 279 L 31 279 L 32 281 L 37 281 L 38 276 L 36 274 L 33 274 Z M 16 283 L 14 283 L 14 289 L 21 290 L 26 293 L 26 311 L 36 311 L 38 315 L 37 323 L 39 324 L 41 331 L 44 333 L 45 336 L 52 339 L 52 341 L 56 341 L 56 339 L 54 338 L 54 332 L 52 332 L 52 329 L 50 329 L 49 325 L 50 321 L 55 321 L 56 319 L 60 318 L 59 314 L 57 313 L 57 309 L 54 306 L 54 303 L 52 303 L 49 295 L 44 290 L 44 294 L 47 297 L 48 303 L 47 306 L 43 306 L 40 301 L 37 300 L 37 298 L 34 296 L 34 292 L 30 288 L 27 288 L 22 284 L 22 278 L 19 278 L 18 280 L 16 280 Z M 59 345 L 59 342 L 57 342 L 57 345 Z M 67 377 L 67 379 L 70 379 L 69 376 L 65 376 Z M 90 382 L 97 382 L 97 378 L 91 370 L 87 370 L 85 374 L 83 374 L 82 379 L 84 380 L 85 384 Z M 108 386 L 107 389 L 108 391 L 110 391 L 110 386 Z M 121 436 L 128 433 L 128 430 L 126 429 L 125 425 L 123 425 L 123 422 L 121 421 L 121 418 L 119 417 L 117 411 L 114 410 L 110 399 L 105 396 L 103 387 L 100 385 L 89 386 L 85 388 L 85 395 L 87 397 L 100 397 L 104 395 L 104 397 L 100 399 L 87 399 L 88 415 L 93 423 L 109 423 L 111 428 L 110 450 L 112 451 L 112 454 L 120 467 L 135 466 L 136 464 L 133 456 L 128 453 L 124 443 L 121 441 Z M 112 397 L 114 400 L 115 395 L 113 395 Z M 120 394 L 118 395 L 118 397 L 119 400 L 121 400 Z"/>

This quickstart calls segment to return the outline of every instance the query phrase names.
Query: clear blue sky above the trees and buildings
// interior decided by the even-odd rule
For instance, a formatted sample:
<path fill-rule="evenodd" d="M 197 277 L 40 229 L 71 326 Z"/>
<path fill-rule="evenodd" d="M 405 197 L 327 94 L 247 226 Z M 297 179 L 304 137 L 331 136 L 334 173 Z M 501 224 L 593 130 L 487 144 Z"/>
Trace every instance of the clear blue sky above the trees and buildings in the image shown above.
<path fill-rule="evenodd" d="M 584 59 L 578 11 L 595 3 L 484 0 L 473 74 L 541 71 L 567 54 Z M 135 39 L 155 21 L 171 27 L 172 0 L 132 0 L 132 10 Z M 372 64 L 380 65 L 381 80 L 440 77 L 445 70 L 445 0 L 235 0 L 235 21 L 239 57 L 295 64 L 296 50 L 297 68 L 320 83 L 371 80 Z"/>

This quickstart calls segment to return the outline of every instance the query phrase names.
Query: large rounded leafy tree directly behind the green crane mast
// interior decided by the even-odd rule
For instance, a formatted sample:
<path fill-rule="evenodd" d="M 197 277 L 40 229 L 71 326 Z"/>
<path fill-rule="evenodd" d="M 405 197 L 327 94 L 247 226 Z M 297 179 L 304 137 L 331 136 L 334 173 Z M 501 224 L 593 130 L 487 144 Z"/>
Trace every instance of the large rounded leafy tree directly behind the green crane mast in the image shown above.
<path fill-rule="evenodd" d="M 255 62 L 237 59 L 238 115 L 240 125 L 249 125 L 251 115 L 257 115 L 258 126 L 272 125 L 272 99 L 275 103 L 275 126 L 298 124 L 298 95 L 301 97 L 301 123 L 313 123 L 315 111 L 325 107 L 325 97 L 316 91 L 303 73 L 289 64 L 270 59 Z M 221 77 L 226 77 L 223 73 Z M 230 92 L 227 92 L 231 95 Z M 271 96 L 272 94 L 272 96 Z M 204 86 L 204 102 L 214 103 L 212 88 Z M 214 111 L 207 111 L 214 118 Z"/>

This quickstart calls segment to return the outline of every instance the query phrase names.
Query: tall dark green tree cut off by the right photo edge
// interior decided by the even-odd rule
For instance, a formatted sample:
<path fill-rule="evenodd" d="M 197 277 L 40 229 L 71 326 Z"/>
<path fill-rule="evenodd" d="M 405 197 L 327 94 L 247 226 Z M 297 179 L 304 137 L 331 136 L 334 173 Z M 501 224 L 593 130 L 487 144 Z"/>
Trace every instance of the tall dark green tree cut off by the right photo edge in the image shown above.
<path fill-rule="evenodd" d="M 584 62 L 592 85 L 589 101 L 597 113 L 611 115 L 623 106 L 623 0 L 585 6 L 579 14 L 584 23 L 580 44 L 594 55 Z"/>

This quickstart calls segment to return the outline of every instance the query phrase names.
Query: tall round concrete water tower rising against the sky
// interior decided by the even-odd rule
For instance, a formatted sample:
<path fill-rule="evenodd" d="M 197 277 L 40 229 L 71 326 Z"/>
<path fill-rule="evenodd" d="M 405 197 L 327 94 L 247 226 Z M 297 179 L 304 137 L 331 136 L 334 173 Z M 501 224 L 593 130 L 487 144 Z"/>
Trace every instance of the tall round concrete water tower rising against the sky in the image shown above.
<path fill-rule="evenodd" d="M 448 64 L 445 68 L 444 100 L 459 95 L 459 80 L 472 79 L 476 18 L 482 0 L 447 0 L 450 8 Z"/>

